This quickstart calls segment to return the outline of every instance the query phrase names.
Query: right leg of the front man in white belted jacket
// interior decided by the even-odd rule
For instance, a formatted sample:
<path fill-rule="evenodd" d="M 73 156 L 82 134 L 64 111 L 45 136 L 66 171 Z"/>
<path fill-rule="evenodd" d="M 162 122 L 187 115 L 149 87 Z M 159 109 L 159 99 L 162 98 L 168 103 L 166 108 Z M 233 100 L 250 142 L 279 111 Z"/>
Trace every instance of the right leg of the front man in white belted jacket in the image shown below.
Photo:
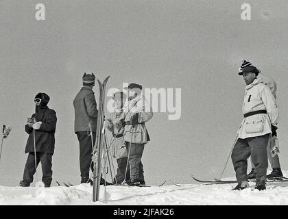
<path fill-rule="evenodd" d="M 251 157 L 256 169 L 256 185 L 265 181 L 268 168 L 267 146 L 269 134 L 248 138 L 248 144 L 251 147 Z"/>

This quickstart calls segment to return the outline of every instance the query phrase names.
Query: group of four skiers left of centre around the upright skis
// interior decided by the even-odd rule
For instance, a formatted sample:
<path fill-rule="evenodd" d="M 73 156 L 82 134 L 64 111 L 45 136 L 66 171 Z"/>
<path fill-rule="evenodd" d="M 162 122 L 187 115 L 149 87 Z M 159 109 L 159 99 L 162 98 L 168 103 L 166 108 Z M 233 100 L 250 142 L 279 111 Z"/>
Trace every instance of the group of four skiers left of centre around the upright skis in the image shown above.
<path fill-rule="evenodd" d="M 75 111 L 74 131 L 80 145 L 80 183 L 91 183 L 90 170 L 93 172 L 93 147 L 97 133 L 97 102 L 94 96 L 95 75 L 84 73 L 83 86 L 73 101 Z M 20 185 L 27 187 L 32 183 L 36 167 L 41 162 L 45 187 L 52 181 L 52 155 L 55 145 L 56 112 L 47 106 L 49 96 L 38 93 L 34 98 L 35 114 L 27 119 L 25 131 L 29 134 L 25 153 L 28 153 L 23 180 Z M 127 90 L 113 94 L 115 110 L 106 114 L 106 129 L 113 140 L 107 149 L 117 159 L 117 174 L 112 183 L 101 177 L 101 184 L 121 184 L 132 186 L 145 185 L 141 157 L 149 135 L 145 123 L 153 116 L 149 103 L 143 96 L 142 86 L 130 83 Z M 105 137 L 106 138 L 106 137 Z M 105 153 L 109 153 L 106 151 Z"/>

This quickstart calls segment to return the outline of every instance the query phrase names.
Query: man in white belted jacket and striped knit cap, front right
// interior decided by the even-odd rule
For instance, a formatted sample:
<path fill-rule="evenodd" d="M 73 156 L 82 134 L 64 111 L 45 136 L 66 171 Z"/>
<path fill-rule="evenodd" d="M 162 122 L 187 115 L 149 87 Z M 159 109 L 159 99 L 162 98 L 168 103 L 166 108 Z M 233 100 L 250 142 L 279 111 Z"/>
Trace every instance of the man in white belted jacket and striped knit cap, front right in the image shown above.
<path fill-rule="evenodd" d="M 242 106 L 244 118 L 237 131 L 237 142 L 231 155 L 238 181 L 234 190 L 243 190 L 250 186 L 247 177 L 247 159 L 250 155 L 256 169 L 255 188 L 265 190 L 267 146 L 272 129 L 277 125 L 278 107 L 263 79 L 257 79 L 257 68 L 245 66 L 239 75 L 243 76 L 247 86 Z"/>

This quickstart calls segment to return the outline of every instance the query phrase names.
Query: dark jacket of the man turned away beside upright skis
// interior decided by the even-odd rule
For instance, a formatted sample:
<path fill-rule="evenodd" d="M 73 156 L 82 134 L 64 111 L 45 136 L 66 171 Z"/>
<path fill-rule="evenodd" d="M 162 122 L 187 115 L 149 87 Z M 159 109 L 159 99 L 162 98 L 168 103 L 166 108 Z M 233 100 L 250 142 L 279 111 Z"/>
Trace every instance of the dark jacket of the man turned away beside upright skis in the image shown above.
<path fill-rule="evenodd" d="M 75 110 L 74 131 L 88 131 L 89 123 L 96 132 L 97 126 L 97 103 L 94 92 L 90 88 L 82 87 L 73 101 Z"/>

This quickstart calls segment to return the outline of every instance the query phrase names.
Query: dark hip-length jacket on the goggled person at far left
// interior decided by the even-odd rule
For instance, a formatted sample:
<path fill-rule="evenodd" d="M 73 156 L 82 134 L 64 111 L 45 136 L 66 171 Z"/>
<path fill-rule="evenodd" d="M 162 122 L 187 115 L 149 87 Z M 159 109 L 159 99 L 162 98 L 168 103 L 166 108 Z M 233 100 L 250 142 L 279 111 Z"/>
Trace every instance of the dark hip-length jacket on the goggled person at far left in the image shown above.
<path fill-rule="evenodd" d="M 46 106 L 37 110 L 36 114 L 32 115 L 33 118 L 36 118 L 36 122 L 42 122 L 40 128 L 35 130 L 36 152 L 53 154 L 57 123 L 56 112 Z M 25 131 L 29 134 L 25 153 L 34 152 L 33 128 L 25 125 Z"/>

